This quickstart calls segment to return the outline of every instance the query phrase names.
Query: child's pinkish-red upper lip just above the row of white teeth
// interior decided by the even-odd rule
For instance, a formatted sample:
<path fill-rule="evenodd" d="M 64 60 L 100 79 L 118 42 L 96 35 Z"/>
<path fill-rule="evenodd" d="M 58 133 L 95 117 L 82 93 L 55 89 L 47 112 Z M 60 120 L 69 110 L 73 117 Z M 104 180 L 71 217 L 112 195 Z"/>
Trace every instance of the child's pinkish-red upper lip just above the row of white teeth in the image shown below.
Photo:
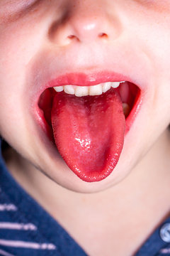
<path fill-rule="evenodd" d="M 41 69 L 40 69 L 41 70 Z M 30 90 L 30 99 L 32 107 L 36 107 L 38 105 L 38 100 L 42 92 L 44 92 L 47 88 L 56 87 L 56 86 L 63 86 L 63 85 L 78 85 L 78 86 L 91 86 L 91 85 L 98 85 L 102 82 L 121 82 L 121 81 L 128 81 L 132 82 L 137 87 L 142 89 L 140 82 L 137 81 L 136 78 L 124 75 L 121 73 L 115 73 L 113 70 L 91 70 L 78 73 L 78 72 L 71 72 L 71 73 L 57 73 L 56 76 L 54 75 L 54 71 L 52 73 L 48 73 L 45 70 L 45 78 L 44 74 L 33 76 L 33 80 L 30 83 L 31 87 L 33 86 L 33 90 Z M 47 73 L 46 73 L 47 72 Z M 37 77 L 39 78 L 37 80 Z"/>

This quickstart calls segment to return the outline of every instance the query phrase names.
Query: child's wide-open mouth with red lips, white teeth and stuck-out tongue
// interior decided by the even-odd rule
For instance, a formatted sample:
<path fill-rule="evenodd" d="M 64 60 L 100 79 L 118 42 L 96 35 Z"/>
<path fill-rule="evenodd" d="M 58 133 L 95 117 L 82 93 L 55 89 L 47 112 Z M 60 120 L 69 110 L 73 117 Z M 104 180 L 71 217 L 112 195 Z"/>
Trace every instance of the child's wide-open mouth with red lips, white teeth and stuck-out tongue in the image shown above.
<path fill-rule="evenodd" d="M 123 76 L 87 79 L 69 74 L 47 84 L 38 113 L 69 169 L 81 180 L 94 182 L 109 176 L 118 164 L 141 101 L 140 87 Z"/>

